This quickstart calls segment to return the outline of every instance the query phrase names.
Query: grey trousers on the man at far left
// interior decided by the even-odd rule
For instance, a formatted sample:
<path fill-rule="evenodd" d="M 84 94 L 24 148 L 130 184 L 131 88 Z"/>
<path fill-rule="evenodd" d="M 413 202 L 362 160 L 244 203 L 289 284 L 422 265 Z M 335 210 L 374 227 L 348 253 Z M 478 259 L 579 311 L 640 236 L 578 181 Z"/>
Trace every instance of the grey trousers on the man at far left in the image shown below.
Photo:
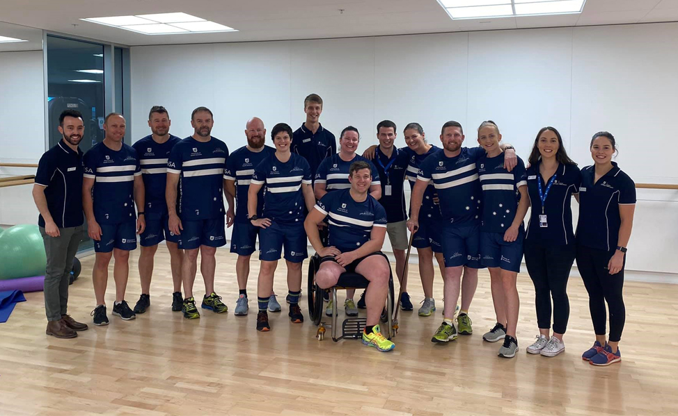
<path fill-rule="evenodd" d="M 66 315 L 70 271 L 83 236 L 83 227 L 59 228 L 59 233 L 58 237 L 50 237 L 45 228 L 40 227 L 47 255 L 44 293 L 48 321 L 58 321 L 61 315 Z"/>

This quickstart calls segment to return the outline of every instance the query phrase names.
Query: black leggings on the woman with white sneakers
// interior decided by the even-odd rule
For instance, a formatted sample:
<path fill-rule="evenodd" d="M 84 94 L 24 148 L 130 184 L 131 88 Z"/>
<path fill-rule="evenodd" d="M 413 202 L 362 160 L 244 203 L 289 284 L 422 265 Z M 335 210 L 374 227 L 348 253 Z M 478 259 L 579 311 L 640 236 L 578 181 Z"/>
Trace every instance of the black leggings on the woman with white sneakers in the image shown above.
<path fill-rule="evenodd" d="M 525 264 L 535 284 L 537 325 L 551 328 L 551 297 L 553 297 L 553 332 L 565 333 L 569 319 L 567 279 L 574 263 L 576 247 L 549 246 L 525 240 Z"/>

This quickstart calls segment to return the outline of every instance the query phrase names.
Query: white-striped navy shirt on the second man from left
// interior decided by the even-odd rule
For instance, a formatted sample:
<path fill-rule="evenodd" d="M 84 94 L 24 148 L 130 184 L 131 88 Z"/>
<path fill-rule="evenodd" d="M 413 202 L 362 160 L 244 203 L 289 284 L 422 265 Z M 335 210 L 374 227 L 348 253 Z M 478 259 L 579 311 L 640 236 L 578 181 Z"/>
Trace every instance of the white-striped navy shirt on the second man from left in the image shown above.
<path fill-rule="evenodd" d="M 83 158 L 84 177 L 94 179 L 94 217 L 99 224 L 120 224 L 136 219 L 134 176 L 141 175 L 136 150 L 123 143 L 115 151 L 100 142 Z"/>

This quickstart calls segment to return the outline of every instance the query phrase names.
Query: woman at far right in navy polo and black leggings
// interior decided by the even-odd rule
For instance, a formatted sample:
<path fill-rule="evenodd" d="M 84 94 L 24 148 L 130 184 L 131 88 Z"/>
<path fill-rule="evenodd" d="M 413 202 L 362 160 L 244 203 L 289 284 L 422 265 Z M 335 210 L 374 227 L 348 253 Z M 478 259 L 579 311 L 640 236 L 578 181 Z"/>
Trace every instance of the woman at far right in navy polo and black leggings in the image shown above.
<path fill-rule="evenodd" d="M 590 149 L 594 164 L 581 169 L 576 259 L 589 294 L 596 341 L 582 358 L 592 365 L 610 365 L 622 360 L 618 347 L 626 314 L 622 287 L 626 244 L 636 210 L 636 184 L 612 161 L 617 150 L 613 135 L 606 131 L 594 134 Z M 606 301 L 610 310 L 607 342 Z"/>

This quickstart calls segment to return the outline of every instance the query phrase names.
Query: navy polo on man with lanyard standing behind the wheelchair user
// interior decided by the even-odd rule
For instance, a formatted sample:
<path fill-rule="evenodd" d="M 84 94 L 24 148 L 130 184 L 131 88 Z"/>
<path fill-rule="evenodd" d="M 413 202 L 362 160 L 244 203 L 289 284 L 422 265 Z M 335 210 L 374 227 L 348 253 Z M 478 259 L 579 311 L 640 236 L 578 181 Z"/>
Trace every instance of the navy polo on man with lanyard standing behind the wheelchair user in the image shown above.
<path fill-rule="evenodd" d="M 379 203 L 386 210 L 388 222 L 400 222 L 407 219 L 405 210 L 405 194 L 403 192 L 405 172 L 409 164 L 409 153 L 393 147 L 393 153 L 389 158 L 381 153 L 379 147 L 375 151 L 375 159 L 372 160 L 381 182 L 381 198 Z M 386 169 L 388 168 L 388 169 Z M 391 186 L 391 194 L 386 194 L 386 185 Z"/>

